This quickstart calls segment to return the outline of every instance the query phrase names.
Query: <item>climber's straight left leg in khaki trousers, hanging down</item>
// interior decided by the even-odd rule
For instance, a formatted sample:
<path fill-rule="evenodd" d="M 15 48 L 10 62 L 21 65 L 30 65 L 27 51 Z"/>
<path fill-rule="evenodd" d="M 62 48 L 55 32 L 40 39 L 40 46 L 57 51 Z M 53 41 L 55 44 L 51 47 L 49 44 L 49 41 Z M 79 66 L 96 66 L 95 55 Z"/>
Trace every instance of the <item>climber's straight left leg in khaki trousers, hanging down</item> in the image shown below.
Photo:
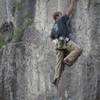
<path fill-rule="evenodd" d="M 63 47 L 63 43 L 58 42 L 56 44 L 56 48 L 62 49 L 62 47 Z M 63 59 L 64 59 L 64 51 L 56 50 L 56 67 L 55 67 L 55 75 L 54 75 L 54 81 L 53 81 L 54 85 L 58 84 L 58 81 L 60 80 L 62 71 L 64 69 Z"/>

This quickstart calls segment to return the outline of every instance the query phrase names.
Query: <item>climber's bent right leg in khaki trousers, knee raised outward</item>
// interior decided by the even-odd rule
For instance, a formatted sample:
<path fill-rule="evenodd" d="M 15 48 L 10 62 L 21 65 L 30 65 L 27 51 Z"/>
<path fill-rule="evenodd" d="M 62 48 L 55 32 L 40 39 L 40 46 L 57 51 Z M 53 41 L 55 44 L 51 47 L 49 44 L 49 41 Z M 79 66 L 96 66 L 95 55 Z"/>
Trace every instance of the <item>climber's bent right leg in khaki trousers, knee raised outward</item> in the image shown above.
<path fill-rule="evenodd" d="M 64 48 L 70 52 L 69 55 L 64 58 L 64 62 L 72 65 L 73 62 L 81 55 L 82 49 L 72 40 L 68 43 L 64 43 Z"/>

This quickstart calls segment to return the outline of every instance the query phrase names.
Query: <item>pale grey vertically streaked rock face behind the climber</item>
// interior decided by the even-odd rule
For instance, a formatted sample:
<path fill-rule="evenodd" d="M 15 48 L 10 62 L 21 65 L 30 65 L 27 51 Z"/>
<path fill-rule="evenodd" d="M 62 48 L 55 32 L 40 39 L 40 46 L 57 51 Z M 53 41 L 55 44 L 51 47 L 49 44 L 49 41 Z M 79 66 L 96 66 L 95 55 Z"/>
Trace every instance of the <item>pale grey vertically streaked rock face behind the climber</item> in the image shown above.
<path fill-rule="evenodd" d="M 100 0 L 77 0 L 71 22 L 73 38 L 83 47 L 83 54 L 71 68 L 66 66 L 58 90 L 51 84 L 55 51 L 47 37 L 53 12 L 65 12 L 69 2 L 20 2 L 13 19 L 15 26 L 25 30 L 24 36 L 0 50 L 0 100 L 100 100 Z M 25 20 L 30 18 L 33 24 L 26 27 Z"/>

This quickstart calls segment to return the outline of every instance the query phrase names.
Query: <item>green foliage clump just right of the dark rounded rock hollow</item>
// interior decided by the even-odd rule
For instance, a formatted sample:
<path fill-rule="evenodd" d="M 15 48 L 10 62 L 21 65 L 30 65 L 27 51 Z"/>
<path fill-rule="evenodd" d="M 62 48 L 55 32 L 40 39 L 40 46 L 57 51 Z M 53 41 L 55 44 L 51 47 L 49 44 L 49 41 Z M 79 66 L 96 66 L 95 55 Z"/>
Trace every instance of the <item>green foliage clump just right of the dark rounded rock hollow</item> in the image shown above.
<path fill-rule="evenodd" d="M 15 28 L 12 38 L 15 40 L 20 40 L 23 35 L 23 31 L 20 28 Z"/>

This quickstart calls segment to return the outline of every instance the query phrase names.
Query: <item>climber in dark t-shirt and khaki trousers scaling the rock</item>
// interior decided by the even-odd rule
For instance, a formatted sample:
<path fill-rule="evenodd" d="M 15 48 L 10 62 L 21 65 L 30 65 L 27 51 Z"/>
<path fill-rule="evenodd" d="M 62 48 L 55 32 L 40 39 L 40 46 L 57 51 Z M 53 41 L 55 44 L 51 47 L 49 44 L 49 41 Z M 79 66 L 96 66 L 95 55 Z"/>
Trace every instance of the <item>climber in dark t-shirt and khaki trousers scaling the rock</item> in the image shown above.
<path fill-rule="evenodd" d="M 55 21 L 49 39 L 56 45 L 56 68 L 52 84 L 58 85 L 64 65 L 72 66 L 76 59 L 81 55 L 82 49 L 69 37 L 68 21 L 73 12 L 75 0 L 70 0 L 70 7 L 63 15 L 62 12 L 55 12 L 53 19 Z M 69 54 L 65 55 L 65 51 Z"/>

